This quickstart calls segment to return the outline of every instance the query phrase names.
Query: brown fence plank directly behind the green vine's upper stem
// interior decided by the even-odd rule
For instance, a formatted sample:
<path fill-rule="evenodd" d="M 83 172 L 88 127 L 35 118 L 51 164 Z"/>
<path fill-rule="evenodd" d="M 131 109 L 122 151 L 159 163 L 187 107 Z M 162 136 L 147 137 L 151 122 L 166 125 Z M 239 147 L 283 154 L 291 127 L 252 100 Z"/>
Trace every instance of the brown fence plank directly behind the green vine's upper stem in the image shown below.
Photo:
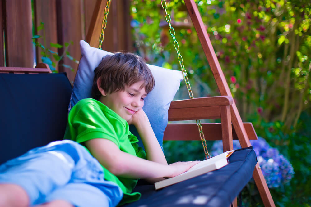
<path fill-rule="evenodd" d="M 42 36 L 39 38 L 41 43 L 46 48 L 51 48 L 50 43 L 58 43 L 57 40 L 57 17 L 56 17 L 56 0 L 35 0 L 35 33 Z M 40 23 L 44 23 L 44 30 L 37 31 Z M 45 41 L 44 41 L 45 31 Z M 54 52 L 58 52 L 57 48 L 51 48 Z M 36 48 L 36 59 L 37 63 L 42 62 L 40 54 L 41 49 Z M 51 56 L 53 60 L 53 57 Z M 58 69 L 56 69 L 58 70 Z"/>

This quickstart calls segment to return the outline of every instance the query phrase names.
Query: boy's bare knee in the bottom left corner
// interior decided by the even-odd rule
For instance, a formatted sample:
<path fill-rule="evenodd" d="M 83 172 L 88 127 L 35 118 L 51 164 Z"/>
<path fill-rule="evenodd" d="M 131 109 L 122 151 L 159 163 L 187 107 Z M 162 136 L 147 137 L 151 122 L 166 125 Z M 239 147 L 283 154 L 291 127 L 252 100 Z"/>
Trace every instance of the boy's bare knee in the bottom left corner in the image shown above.
<path fill-rule="evenodd" d="M 7 206 L 29 206 L 29 198 L 26 191 L 15 184 L 0 184 L 0 207 Z"/>

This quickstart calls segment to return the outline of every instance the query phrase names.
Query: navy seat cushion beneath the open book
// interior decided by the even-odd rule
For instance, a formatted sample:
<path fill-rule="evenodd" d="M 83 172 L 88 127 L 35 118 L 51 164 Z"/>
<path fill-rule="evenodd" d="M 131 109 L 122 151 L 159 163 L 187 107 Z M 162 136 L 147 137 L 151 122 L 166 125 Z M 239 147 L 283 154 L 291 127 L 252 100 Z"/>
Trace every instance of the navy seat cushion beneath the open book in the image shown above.
<path fill-rule="evenodd" d="M 252 178 L 257 163 L 252 147 L 235 151 L 225 167 L 155 191 L 154 185 L 140 185 L 140 200 L 126 207 L 230 206 Z"/>

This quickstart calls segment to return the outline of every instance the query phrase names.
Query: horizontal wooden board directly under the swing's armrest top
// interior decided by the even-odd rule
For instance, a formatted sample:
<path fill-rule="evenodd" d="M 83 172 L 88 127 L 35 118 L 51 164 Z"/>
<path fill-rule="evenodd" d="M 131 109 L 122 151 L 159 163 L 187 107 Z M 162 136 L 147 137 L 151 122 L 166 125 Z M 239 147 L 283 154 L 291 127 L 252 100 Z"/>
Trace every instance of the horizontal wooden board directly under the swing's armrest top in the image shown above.
<path fill-rule="evenodd" d="M 220 118 L 219 106 L 169 109 L 169 121 L 218 118 Z"/>

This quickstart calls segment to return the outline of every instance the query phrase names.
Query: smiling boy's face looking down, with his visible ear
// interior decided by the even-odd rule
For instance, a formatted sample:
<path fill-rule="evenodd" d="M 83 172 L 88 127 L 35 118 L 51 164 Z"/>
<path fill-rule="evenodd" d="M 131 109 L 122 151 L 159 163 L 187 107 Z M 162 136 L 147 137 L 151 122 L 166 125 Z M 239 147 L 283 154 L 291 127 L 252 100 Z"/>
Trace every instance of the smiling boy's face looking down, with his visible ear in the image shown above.
<path fill-rule="evenodd" d="M 144 87 L 141 88 L 143 83 L 144 81 L 139 81 L 131 86 L 125 86 L 124 91 L 106 93 L 100 101 L 123 119 L 129 121 L 132 115 L 144 106 L 147 93 Z"/>

